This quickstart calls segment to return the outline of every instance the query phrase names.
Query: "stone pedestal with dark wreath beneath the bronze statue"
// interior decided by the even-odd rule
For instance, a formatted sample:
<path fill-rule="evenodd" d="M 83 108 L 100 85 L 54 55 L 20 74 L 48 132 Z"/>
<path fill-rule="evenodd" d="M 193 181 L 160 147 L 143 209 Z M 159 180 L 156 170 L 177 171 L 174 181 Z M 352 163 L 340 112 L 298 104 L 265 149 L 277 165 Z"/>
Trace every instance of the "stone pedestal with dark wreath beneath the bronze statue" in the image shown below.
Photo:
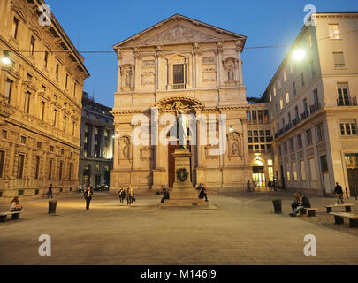
<path fill-rule="evenodd" d="M 204 199 L 198 197 L 198 192 L 193 187 L 190 171 L 190 158 L 192 154 L 189 149 L 175 149 L 173 157 L 175 160 L 175 181 L 170 191 L 170 199 L 161 203 L 162 206 L 193 206 L 207 205 Z"/>

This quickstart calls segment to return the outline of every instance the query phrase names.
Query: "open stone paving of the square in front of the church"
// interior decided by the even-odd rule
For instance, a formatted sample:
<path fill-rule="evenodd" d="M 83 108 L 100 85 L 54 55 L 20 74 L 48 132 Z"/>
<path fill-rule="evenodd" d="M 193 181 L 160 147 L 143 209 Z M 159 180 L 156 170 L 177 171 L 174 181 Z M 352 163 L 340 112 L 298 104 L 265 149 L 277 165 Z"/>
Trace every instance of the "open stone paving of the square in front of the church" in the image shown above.
<path fill-rule="evenodd" d="M 161 208 L 160 198 L 138 195 L 127 206 L 98 193 L 86 211 L 80 195 L 66 195 L 55 216 L 47 200 L 22 203 L 20 220 L 0 223 L 0 264 L 358 264 L 358 235 L 289 217 L 291 194 L 209 195 L 207 208 Z M 334 203 L 310 201 L 322 213 Z M 38 254 L 41 234 L 51 237 L 51 256 Z M 316 256 L 303 253 L 306 234 L 316 236 Z"/>

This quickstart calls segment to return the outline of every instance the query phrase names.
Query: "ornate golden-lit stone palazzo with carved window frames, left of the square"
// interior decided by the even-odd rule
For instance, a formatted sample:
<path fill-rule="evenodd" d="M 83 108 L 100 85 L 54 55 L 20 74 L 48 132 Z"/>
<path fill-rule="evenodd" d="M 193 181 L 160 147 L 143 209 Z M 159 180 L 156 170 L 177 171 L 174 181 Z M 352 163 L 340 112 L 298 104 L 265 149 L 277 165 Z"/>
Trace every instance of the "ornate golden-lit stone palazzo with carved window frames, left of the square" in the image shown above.
<path fill-rule="evenodd" d="M 0 1 L 0 202 L 78 186 L 82 88 L 89 73 L 42 0 Z M 9 59 L 11 61 L 9 61 Z M 7 62 L 8 61 L 8 62 Z"/>

